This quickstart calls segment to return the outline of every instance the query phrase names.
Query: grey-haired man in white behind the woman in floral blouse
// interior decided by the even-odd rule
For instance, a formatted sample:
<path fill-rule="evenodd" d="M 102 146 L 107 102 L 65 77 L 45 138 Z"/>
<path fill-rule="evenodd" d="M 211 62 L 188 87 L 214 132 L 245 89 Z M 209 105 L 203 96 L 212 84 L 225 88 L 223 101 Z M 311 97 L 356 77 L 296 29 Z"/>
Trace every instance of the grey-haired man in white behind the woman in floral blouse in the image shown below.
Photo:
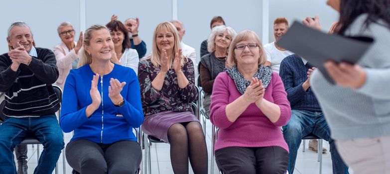
<path fill-rule="evenodd" d="M 186 56 L 187 58 L 192 60 L 192 63 L 194 64 L 194 68 L 195 68 L 195 78 L 197 78 L 198 73 L 196 69 L 198 67 L 198 64 L 196 63 L 196 52 L 195 52 L 195 48 L 192 48 L 183 43 L 183 36 L 185 34 L 183 22 L 181 22 L 180 20 L 172 20 L 171 23 L 176 27 L 177 32 L 179 32 L 180 47 L 181 47 L 182 54 L 183 56 Z"/>

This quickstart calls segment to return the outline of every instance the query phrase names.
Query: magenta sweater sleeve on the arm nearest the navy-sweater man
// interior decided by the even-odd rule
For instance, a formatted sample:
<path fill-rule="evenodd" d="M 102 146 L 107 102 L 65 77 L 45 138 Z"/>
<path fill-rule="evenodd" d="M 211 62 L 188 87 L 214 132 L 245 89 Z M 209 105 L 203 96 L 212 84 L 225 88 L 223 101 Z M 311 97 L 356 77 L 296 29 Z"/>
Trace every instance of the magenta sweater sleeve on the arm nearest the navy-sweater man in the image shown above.
<path fill-rule="evenodd" d="M 284 90 L 283 83 L 277 73 L 272 73 L 272 97 L 273 102 L 280 107 L 280 117 L 273 123 L 275 126 L 284 126 L 291 117 L 290 102 L 287 99 L 287 93 Z"/>

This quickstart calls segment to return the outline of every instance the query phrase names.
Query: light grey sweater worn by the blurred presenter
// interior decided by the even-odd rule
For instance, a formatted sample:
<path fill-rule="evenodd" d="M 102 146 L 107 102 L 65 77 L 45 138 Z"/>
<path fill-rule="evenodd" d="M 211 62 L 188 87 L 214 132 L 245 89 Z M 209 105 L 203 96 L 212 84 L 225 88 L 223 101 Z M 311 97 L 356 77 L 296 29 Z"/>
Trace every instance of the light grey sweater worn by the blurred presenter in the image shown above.
<path fill-rule="evenodd" d="M 360 15 L 346 31 L 375 39 L 358 63 L 366 71 L 366 83 L 359 89 L 331 85 L 319 71 L 310 80 L 336 140 L 390 135 L 390 30 L 377 23 L 364 27 L 366 18 Z"/>

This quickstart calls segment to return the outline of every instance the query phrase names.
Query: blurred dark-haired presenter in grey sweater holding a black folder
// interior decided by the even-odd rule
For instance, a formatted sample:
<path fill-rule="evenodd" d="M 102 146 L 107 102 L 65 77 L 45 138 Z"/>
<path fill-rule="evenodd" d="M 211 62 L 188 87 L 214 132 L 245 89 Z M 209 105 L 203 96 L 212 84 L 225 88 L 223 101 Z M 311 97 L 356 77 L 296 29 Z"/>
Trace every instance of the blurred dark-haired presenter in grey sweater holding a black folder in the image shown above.
<path fill-rule="evenodd" d="M 328 0 L 340 12 L 335 33 L 375 42 L 361 60 L 325 62 L 336 85 L 319 71 L 310 80 L 343 160 L 355 174 L 390 174 L 390 1 Z M 304 23 L 320 28 L 318 17 Z M 308 74 L 310 75 L 312 71 Z"/>

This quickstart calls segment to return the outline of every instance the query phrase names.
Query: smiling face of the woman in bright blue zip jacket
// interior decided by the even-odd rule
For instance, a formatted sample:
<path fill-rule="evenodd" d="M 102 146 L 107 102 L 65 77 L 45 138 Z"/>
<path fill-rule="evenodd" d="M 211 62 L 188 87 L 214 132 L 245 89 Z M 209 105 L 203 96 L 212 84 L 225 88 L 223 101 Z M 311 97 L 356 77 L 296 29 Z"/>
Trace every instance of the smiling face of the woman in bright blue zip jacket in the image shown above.
<path fill-rule="evenodd" d="M 84 45 L 93 60 L 110 60 L 114 51 L 114 43 L 107 29 L 99 29 L 91 34 L 90 43 Z"/>

